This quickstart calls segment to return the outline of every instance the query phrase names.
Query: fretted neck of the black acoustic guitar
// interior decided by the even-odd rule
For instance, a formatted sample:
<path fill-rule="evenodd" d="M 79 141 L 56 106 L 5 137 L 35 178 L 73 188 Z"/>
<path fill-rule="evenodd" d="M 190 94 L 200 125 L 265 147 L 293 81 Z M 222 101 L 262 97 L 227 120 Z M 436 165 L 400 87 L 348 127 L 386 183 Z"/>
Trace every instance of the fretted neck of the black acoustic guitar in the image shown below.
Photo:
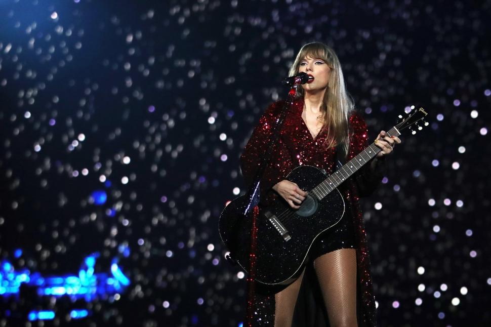
<path fill-rule="evenodd" d="M 387 135 L 399 136 L 400 133 L 395 127 L 393 127 L 390 131 L 387 132 Z M 356 171 L 358 171 L 367 162 L 374 158 L 380 151 L 382 151 L 382 149 L 376 146 L 375 143 L 372 143 L 354 158 L 346 162 L 346 164 L 338 169 L 334 174 L 330 175 L 319 185 L 314 187 L 311 192 L 313 192 L 319 200 L 322 199 L 324 196 L 331 193 L 331 191 L 333 191 L 336 187 L 341 185 L 351 175 L 356 173 Z"/>

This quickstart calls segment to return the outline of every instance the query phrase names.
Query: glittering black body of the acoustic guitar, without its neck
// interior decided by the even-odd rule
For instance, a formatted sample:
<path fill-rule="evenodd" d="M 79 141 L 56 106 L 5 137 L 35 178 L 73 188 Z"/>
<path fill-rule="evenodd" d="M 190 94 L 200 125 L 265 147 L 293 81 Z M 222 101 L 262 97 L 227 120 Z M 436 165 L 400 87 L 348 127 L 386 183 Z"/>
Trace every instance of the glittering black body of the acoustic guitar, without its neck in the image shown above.
<path fill-rule="evenodd" d="M 306 191 L 312 190 L 326 176 L 312 166 L 300 166 L 286 177 Z M 252 210 L 243 215 L 247 196 L 240 196 L 223 210 L 219 221 L 222 241 L 230 256 L 245 272 L 249 268 Z M 289 284 L 301 273 L 302 265 L 314 240 L 336 225 L 345 212 L 343 196 L 336 188 L 321 200 L 309 192 L 300 209 L 292 209 L 278 199 L 260 208 L 257 220 L 256 281 L 264 284 Z"/>

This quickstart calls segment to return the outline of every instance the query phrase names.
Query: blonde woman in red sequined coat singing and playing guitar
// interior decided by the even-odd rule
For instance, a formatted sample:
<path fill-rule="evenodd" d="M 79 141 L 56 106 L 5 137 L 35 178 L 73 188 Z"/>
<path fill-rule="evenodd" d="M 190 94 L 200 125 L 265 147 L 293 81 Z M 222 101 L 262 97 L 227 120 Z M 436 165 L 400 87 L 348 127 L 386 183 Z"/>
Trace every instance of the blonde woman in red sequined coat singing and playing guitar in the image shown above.
<path fill-rule="evenodd" d="M 343 72 L 334 51 L 321 43 L 303 46 L 290 76 L 299 72 L 306 72 L 314 79 L 299 88 L 298 97 L 284 119 L 270 164 L 262 176 L 260 205 L 281 197 L 292 208 L 300 208 L 307 192 L 285 180 L 295 167 L 315 166 L 331 175 L 336 170 L 337 158 L 350 160 L 369 145 L 365 121 L 354 110 L 345 90 Z M 282 101 L 267 108 L 240 157 L 246 183 L 250 184 L 255 176 L 271 127 L 282 108 Z M 358 201 L 378 186 L 384 158 L 400 142 L 384 131 L 379 133 L 375 144 L 382 151 L 338 187 L 346 203 L 343 218 L 316 238 L 310 248 L 309 262 L 296 281 L 281 291 L 275 290 L 274 295 L 258 294 L 257 324 L 272 325 L 273 321 L 274 326 L 280 327 L 291 326 L 292 322 L 298 326 L 376 324 L 370 260 Z M 317 302 L 316 293 L 320 299 Z M 314 305 L 310 304 L 312 299 Z M 323 313 L 316 311 L 316 307 Z"/>

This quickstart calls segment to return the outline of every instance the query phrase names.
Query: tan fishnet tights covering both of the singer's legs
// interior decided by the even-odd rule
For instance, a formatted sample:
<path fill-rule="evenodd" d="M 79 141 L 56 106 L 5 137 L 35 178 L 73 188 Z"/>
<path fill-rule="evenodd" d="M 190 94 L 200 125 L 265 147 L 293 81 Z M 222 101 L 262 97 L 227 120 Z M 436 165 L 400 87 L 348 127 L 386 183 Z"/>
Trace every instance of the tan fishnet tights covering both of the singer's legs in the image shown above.
<path fill-rule="evenodd" d="M 340 249 L 314 260 L 314 268 L 331 327 L 357 327 L 356 250 Z M 275 327 L 292 325 L 293 312 L 304 273 L 275 294 Z"/>

